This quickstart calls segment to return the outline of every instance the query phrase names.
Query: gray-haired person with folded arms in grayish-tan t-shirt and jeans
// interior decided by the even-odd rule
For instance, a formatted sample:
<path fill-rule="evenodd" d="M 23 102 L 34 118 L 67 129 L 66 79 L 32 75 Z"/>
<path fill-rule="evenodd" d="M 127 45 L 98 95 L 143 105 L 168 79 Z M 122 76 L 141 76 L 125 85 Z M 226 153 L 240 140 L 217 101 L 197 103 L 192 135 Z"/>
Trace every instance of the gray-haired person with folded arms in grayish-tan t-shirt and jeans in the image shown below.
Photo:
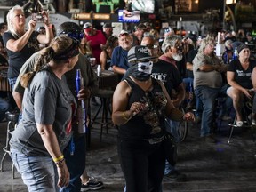
<path fill-rule="evenodd" d="M 215 142 L 212 137 L 214 105 L 219 94 L 225 94 L 227 84 L 223 84 L 221 73 L 227 66 L 214 54 L 214 39 L 204 38 L 193 60 L 194 90 L 196 97 L 204 104 L 200 136 L 206 142 Z"/>

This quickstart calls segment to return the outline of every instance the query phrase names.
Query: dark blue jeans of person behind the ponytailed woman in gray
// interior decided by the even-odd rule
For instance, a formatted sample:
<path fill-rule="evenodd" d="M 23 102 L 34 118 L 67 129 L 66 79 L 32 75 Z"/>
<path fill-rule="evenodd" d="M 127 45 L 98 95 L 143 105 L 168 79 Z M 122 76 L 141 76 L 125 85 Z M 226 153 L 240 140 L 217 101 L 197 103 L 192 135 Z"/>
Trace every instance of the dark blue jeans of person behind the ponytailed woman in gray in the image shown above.
<path fill-rule="evenodd" d="M 71 141 L 70 141 L 71 142 Z M 61 192 L 80 192 L 81 191 L 81 179 L 80 176 L 83 174 L 85 169 L 85 152 L 86 152 L 86 142 L 85 135 L 75 138 L 75 152 L 74 155 L 70 154 L 69 145 L 64 149 L 63 155 L 65 156 L 65 161 L 68 166 L 68 171 L 70 173 L 69 184 L 65 188 L 60 188 Z"/>

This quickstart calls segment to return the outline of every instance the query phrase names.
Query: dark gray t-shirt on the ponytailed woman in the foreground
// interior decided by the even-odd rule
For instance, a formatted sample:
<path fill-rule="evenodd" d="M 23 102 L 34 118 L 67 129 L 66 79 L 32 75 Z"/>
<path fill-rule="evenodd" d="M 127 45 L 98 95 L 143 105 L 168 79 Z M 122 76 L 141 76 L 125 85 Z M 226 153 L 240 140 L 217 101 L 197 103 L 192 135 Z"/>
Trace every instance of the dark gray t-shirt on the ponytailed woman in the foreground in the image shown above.
<path fill-rule="evenodd" d="M 22 119 L 12 132 L 11 148 L 26 156 L 49 156 L 36 123 L 52 124 L 60 150 L 67 147 L 72 135 L 71 120 L 76 100 L 64 76 L 60 80 L 51 69 L 37 73 L 25 89 L 22 108 Z"/>

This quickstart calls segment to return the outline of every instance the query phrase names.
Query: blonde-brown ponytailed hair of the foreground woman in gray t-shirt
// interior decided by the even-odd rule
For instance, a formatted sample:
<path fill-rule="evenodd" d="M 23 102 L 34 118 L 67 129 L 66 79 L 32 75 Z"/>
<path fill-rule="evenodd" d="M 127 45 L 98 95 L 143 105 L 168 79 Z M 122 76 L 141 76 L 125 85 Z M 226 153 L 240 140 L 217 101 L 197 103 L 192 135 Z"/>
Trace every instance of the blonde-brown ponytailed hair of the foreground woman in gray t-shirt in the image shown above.
<path fill-rule="evenodd" d="M 56 36 L 55 38 L 53 38 L 51 44 L 39 52 L 40 56 L 36 60 L 33 71 L 30 71 L 24 74 L 23 76 L 21 76 L 20 84 L 24 88 L 28 87 L 28 84 L 30 84 L 30 82 L 32 81 L 36 73 L 42 70 L 43 68 L 45 68 L 47 63 L 50 62 L 51 60 L 56 65 L 65 63 L 68 59 L 58 60 L 58 59 L 54 59 L 53 57 L 56 55 L 61 55 L 61 53 L 64 53 L 64 52 L 67 53 L 66 51 L 72 44 L 73 44 L 73 40 L 68 36 Z"/>

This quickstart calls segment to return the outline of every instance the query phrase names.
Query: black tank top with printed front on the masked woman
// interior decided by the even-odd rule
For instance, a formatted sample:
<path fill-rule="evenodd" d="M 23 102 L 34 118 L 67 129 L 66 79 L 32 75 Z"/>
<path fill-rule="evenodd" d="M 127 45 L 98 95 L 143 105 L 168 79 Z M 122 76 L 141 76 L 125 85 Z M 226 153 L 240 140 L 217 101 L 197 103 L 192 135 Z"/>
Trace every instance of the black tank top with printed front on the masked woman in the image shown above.
<path fill-rule="evenodd" d="M 120 125 L 119 138 L 121 140 L 147 140 L 163 137 L 167 99 L 161 85 L 152 78 L 153 89 L 145 92 L 129 76 L 125 80 L 132 87 L 126 109 L 129 110 L 132 103 L 137 101 L 146 103 L 148 107 L 133 116 L 126 124 Z"/>

